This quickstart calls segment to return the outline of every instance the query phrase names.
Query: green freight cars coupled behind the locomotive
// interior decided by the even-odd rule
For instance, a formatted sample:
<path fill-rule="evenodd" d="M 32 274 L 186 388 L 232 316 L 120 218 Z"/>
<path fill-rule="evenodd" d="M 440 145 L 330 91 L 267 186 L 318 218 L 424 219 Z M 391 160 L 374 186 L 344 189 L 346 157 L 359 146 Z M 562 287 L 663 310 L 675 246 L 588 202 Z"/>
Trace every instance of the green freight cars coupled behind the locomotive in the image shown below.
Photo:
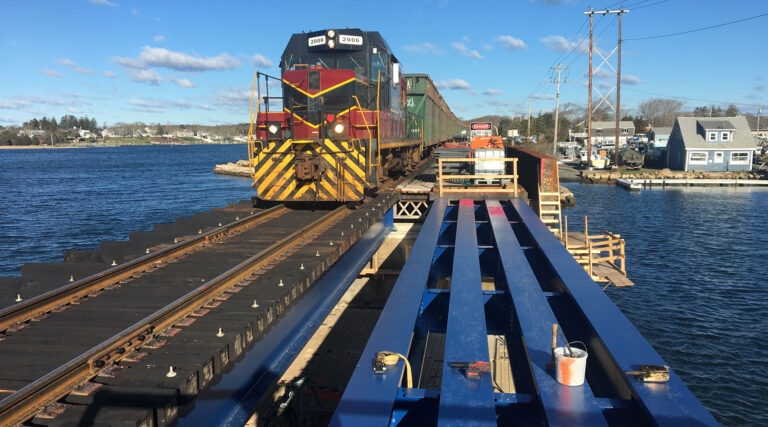
<path fill-rule="evenodd" d="M 424 145 L 432 146 L 449 140 L 467 125 L 456 117 L 427 74 L 405 74 L 406 110 L 409 113 L 408 135 L 418 138 L 424 129 Z"/>

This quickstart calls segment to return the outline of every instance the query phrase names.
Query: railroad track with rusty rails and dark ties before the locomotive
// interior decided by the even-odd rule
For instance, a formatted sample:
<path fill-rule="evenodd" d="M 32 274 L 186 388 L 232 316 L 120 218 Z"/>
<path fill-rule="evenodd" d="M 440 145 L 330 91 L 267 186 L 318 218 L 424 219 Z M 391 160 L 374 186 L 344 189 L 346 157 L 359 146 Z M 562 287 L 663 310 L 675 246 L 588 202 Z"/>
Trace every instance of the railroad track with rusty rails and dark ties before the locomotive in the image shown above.
<path fill-rule="evenodd" d="M 77 401 L 87 397 L 104 386 L 99 379 L 114 379 L 115 371 L 138 366 L 136 362 L 147 354 L 160 357 L 158 349 L 170 354 L 168 349 L 173 346 L 163 344 L 173 342 L 179 331 L 184 331 L 181 336 L 192 331 L 194 328 L 189 326 L 195 322 L 205 324 L 206 317 L 210 317 L 206 316 L 208 312 L 234 302 L 240 304 L 237 310 L 250 308 L 249 315 L 253 317 L 244 320 L 246 325 L 240 331 L 226 327 L 211 333 L 217 338 L 226 337 L 226 355 L 219 352 L 220 357 L 214 357 L 210 363 L 190 362 L 200 368 L 194 373 L 196 382 L 191 394 L 196 393 L 265 333 L 282 311 L 300 298 L 311 282 L 354 244 L 368 226 L 378 221 L 387 208 L 387 202 L 381 201 L 373 202 L 373 207 L 364 205 L 358 211 L 341 207 L 327 213 L 291 211 L 278 206 L 207 233 L 201 230 L 199 235 L 0 310 L 0 330 L 4 330 L 0 339 L 0 389 L 14 391 L 0 401 L 0 425 L 17 425 L 32 417 L 47 424 L 68 407 L 62 398 Z M 352 218 L 348 218 L 350 215 Z M 298 229 L 291 226 L 300 217 L 305 225 Z M 345 218 L 346 222 L 340 225 Z M 256 253 L 233 263 L 232 252 L 242 253 L 246 247 Z M 300 265 L 294 265 L 297 254 L 305 260 Z M 203 265 L 203 258 L 208 259 L 208 265 Z M 275 269 L 285 279 L 270 280 Z M 226 271 L 222 273 L 223 270 Z M 181 275 L 182 271 L 187 274 Z M 198 276 L 214 278 L 205 280 Z M 166 286 L 166 282 L 174 282 L 171 285 L 178 289 L 170 292 L 173 286 Z M 265 282 L 275 283 L 267 286 Z M 157 292 L 157 288 L 162 292 Z M 122 295 L 117 295 L 121 290 Z M 151 303 L 137 303 L 137 292 L 146 292 L 147 299 L 155 301 L 155 308 L 148 309 Z M 122 299 L 131 294 L 132 299 Z M 234 295 L 246 298 L 230 298 Z M 165 302 L 158 309 L 161 297 Z M 230 326 L 230 320 L 248 316 L 225 317 Z M 115 329 L 115 325 L 125 327 Z M 80 329 L 83 331 L 78 333 Z M 58 355 L 60 350 L 68 353 Z M 37 357 L 38 353 L 42 355 Z M 50 357 L 53 354 L 58 357 Z M 30 358 L 25 360 L 24 355 Z M 36 371 L 29 368 L 30 364 Z M 163 366 L 169 370 L 166 379 L 172 379 L 176 372 L 180 377 L 190 377 L 190 369 L 195 370 L 181 367 L 174 372 L 171 366 Z M 17 370 L 26 374 L 17 375 Z M 189 391 L 184 387 L 190 388 L 189 381 L 187 385 L 182 383 L 175 383 L 180 395 Z M 154 415 L 155 422 L 174 419 L 179 403 L 166 405 L 173 410 L 166 408 L 162 416 Z"/>

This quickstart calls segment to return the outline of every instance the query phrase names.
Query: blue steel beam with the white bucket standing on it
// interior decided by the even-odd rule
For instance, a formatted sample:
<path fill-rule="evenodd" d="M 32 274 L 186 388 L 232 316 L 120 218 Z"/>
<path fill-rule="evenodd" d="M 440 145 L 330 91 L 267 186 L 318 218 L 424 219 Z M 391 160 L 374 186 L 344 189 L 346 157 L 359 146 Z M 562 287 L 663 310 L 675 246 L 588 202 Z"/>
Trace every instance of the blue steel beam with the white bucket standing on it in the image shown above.
<path fill-rule="evenodd" d="M 589 384 L 558 383 L 546 365 L 551 360 L 555 315 L 497 200 L 487 200 L 488 215 L 499 249 L 511 304 L 515 307 L 540 403 L 549 425 L 606 425 Z M 550 233 L 551 234 L 551 233 Z"/>

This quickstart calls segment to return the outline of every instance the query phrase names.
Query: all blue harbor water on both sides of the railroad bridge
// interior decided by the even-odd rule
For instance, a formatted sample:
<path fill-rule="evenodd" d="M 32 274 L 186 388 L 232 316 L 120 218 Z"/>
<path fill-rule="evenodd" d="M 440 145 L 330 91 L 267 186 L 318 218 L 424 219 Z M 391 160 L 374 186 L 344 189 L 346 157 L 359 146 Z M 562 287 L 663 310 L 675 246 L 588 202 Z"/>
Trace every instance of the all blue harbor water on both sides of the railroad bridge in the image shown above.
<path fill-rule="evenodd" d="M 214 175 L 244 145 L 0 150 L 0 276 L 69 249 L 255 195 Z M 627 240 L 632 288 L 606 292 L 718 421 L 768 425 L 768 191 L 567 183 L 571 228 Z M 761 339 L 762 338 L 762 339 Z"/>

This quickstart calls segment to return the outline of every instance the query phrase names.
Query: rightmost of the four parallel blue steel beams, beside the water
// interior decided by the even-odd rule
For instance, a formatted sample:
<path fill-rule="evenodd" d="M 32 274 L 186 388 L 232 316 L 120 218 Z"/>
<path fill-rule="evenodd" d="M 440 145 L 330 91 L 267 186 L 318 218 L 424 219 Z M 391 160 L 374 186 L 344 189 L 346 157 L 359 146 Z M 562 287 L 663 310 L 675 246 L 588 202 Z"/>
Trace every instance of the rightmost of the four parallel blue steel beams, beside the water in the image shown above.
<path fill-rule="evenodd" d="M 573 259 L 560 241 L 544 226 L 531 208 L 520 200 L 512 206 L 563 282 L 567 294 L 581 310 L 620 372 L 637 370 L 641 364 L 666 362 L 608 296 Z M 644 383 L 622 374 L 633 400 L 659 425 L 718 425 L 680 377 L 670 369 L 663 384 Z"/>

